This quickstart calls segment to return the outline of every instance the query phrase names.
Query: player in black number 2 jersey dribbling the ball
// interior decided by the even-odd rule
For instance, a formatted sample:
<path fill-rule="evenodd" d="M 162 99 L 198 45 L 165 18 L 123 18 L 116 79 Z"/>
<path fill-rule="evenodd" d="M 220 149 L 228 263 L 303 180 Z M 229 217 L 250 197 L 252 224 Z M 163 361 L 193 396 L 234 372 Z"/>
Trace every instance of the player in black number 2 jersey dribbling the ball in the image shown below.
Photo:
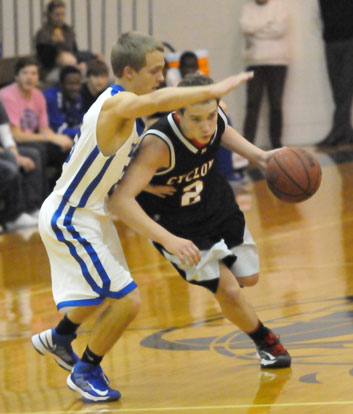
<path fill-rule="evenodd" d="M 180 86 L 207 85 L 204 75 L 185 77 Z M 191 240 L 200 250 L 195 266 L 164 247 L 155 247 L 189 283 L 214 293 L 224 315 L 254 341 L 262 368 L 289 367 L 279 338 L 258 319 L 240 286 L 259 278 L 256 245 L 228 182 L 214 166 L 220 145 L 262 168 L 273 155 L 227 125 L 216 99 L 171 112 L 144 134 L 139 151 L 111 202 L 120 219 L 141 232 L 147 215 L 155 226 Z"/>

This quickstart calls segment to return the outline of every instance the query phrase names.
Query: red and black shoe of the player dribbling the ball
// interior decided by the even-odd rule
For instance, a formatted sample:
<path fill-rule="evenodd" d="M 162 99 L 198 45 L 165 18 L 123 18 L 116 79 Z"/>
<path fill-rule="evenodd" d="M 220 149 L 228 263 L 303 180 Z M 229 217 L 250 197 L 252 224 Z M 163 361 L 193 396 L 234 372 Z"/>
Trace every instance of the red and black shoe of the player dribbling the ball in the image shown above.
<path fill-rule="evenodd" d="M 281 344 L 279 336 L 276 336 L 272 331 L 269 330 L 265 339 L 256 346 L 256 349 L 261 368 L 290 367 L 292 358 Z"/>

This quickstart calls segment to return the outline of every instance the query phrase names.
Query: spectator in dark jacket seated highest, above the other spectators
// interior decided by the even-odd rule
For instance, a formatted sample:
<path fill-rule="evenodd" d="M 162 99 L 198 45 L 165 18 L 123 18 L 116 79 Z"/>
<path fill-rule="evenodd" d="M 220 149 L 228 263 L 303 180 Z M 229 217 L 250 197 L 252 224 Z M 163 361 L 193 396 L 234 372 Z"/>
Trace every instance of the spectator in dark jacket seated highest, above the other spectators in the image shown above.
<path fill-rule="evenodd" d="M 65 23 L 66 4 L 62 0 L 51 0 L 47 5 L 46 22 L 35 36 L 35 49 L 44 73 L 50 72 L 58 56 L 58 50 L 65 47 L 74 54 L 78 62 L 95 58 L 89 51 L 79 51 L 74 29 Z"/>

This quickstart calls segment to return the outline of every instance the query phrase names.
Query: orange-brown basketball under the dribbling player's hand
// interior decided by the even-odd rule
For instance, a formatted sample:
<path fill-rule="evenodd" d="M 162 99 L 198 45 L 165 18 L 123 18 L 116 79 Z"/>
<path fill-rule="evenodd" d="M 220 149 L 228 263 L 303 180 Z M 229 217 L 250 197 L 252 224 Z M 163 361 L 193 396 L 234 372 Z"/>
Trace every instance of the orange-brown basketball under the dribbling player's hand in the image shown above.
<path fill-rule="evenodd" d="M 321 167 L 316 157 L 302 148 L 281 148 L 267 164 L 266 181 L 280 200 L 299 203 L 320 187 Z"/>

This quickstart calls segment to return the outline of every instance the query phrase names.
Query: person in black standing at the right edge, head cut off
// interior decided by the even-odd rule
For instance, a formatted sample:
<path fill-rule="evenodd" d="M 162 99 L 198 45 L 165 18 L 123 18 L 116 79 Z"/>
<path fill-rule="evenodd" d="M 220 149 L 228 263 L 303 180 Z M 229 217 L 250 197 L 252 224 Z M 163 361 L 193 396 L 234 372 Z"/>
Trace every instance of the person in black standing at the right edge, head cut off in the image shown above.
<path fill-rule="evenodd" d="M 332 127 L 319 146 L 353 143 L 353 3 L 350 0 L 319 0 L 326 66 L 335 110 Z"/>

